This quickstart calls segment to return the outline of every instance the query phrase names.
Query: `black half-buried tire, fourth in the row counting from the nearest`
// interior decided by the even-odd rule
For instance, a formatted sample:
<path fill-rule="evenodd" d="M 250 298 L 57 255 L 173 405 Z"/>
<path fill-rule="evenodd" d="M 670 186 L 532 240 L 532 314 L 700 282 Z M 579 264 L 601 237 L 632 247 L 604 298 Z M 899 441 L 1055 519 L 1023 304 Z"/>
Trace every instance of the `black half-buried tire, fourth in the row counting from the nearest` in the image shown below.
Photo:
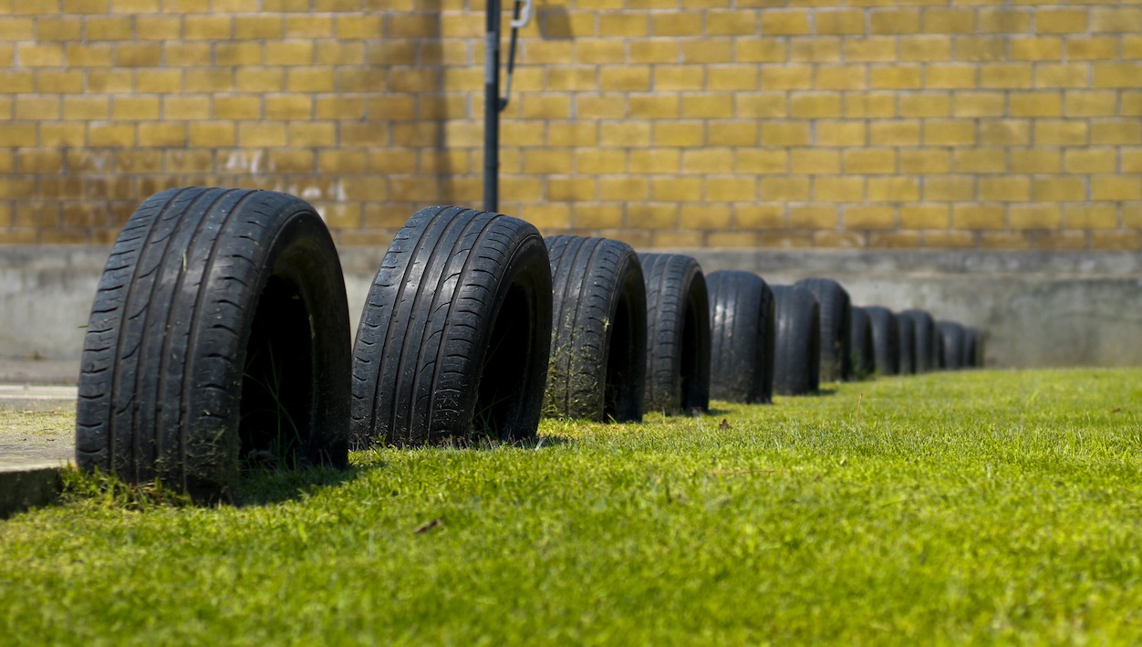
<path fill-rule="evenodd" d="M 702 269 L 682 254 L 640 254 L 646 280 L 646 410 L 709 410 L 710 312 Z"/>

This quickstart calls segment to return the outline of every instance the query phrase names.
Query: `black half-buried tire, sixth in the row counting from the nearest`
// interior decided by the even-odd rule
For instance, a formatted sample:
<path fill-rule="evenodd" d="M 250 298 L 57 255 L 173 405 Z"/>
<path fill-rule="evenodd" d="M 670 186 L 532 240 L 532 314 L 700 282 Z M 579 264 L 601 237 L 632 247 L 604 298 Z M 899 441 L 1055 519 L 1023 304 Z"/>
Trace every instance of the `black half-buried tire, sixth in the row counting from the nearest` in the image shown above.
<path fill-rule="evenodd" d="M 773 286 L 773 392 L 805 396 L 820 389 L 821 306 L 813 293 Z"/>

